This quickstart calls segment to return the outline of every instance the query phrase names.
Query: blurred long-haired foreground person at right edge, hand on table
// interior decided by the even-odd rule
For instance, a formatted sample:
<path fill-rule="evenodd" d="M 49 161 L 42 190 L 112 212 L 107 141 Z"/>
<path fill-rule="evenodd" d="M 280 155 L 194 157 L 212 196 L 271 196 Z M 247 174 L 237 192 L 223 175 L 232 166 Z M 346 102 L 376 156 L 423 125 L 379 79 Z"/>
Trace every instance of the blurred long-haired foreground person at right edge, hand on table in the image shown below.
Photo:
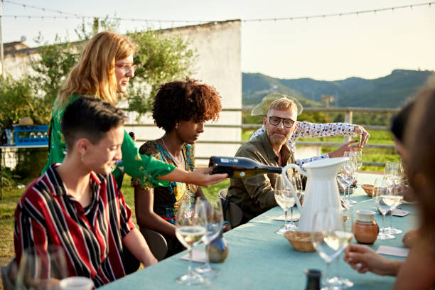
<path fill-rule="evenodd" d="M 345 261 L 360 273 L 396 276 L 393 289 L 435 286 L 435 79 L 419 92 L 405 130 L 405 171 L 419 208 L 419 235 L 404 261 L 387 259 L 370 247 L 349 245 Z M 366 277 L 370 279 L 370 277 Z"/>

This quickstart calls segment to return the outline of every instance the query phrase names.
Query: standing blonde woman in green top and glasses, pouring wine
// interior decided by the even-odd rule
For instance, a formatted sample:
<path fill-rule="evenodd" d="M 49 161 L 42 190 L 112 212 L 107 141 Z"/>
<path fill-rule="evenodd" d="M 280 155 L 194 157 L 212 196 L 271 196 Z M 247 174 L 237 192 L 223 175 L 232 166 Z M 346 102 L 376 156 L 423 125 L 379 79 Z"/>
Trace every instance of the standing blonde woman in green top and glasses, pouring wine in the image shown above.
<path fill-rule="evenodd" d="M 117 104 L 118 95 L 127 92 L 129 80 L 134 77 L 136 65 L 133 63 L 133 54 L 133 43 L 116 33 L 105 31 L 90 39 L 54 102 L 49 129 L 49 156 L 43 172 L 51 164 L 62 162 L 65 158 L 66 144 L 60 126 L 65 107 L 80 95 L 93 96 Z M 122 161 L 113 172 L 118 186 L 124 173 L 152 187 L 168 186 L 168 181 L 210 186 L 226 178 L 226 175 L 222 174 L 209 175 L 209 168 L 187 172 L 151 156 L 140 155 L 129 134 L 124 133 Z"/>

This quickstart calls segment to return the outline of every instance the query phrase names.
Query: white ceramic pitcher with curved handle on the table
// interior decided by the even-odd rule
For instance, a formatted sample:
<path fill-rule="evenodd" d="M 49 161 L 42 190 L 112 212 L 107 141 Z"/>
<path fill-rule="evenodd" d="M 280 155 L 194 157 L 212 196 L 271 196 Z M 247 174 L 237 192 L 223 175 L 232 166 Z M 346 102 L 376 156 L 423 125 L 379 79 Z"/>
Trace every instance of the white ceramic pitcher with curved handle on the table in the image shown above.
<path fill-rule="evenodd" d="M 291 189 L 296 205 L 301 213 L 298 230 L 301 232 L 311 232 L 313 227 L 314 214 L 318 210 L 323 210 L 325 207 L 341 209 L 340 193 L 338 193 L 337 173 L 343 162 L 347 161 L 347 157 L 321 159 L 306 163 L 302 166 L 302 170 L 296 164 L 289 164 L 282 169 L 282 176 L 286 181 L 287 186 Z M 307 176 L 304 196 L 304 207 L 301 206 L 297 198 L 289 178 L 286 174 L 287 169 L 295 168 L 304 176 Z"/>

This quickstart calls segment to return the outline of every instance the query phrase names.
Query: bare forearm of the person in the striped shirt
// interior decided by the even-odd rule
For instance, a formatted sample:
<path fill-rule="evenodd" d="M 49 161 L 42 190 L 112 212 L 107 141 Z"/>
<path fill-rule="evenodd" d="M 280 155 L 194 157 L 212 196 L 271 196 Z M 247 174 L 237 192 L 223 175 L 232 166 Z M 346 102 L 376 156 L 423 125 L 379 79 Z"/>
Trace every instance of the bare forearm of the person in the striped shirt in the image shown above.
<path fill-rule="evenodd" d="M 151 253 L 151 249 L 149 249 L 146 240 L 139 230 L 130 230 L 130 232 L 122 238 L 122 244 L 129 249 L 136 259 L 144 264 L 144 267 L 157 263 L 156 257 Z"/>

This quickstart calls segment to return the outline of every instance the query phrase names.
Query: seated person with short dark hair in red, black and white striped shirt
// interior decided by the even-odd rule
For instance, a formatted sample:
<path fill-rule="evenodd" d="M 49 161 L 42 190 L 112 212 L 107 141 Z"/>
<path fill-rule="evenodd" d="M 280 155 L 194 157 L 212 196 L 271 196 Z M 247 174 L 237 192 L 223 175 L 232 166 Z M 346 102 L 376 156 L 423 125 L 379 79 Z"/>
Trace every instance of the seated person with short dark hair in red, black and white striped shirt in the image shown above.
<path fill-rule="evenodd" d="M 95 286 L 126 275 L 127 249 L 145 267 L 156 263 L 111 174 L 122 158 L 124 113 L 79 97 L 62 120 L 65 159 L 33 181 L 16 207 L 16 262 L 28 247 L 57 245 L 65 251 L 68 275 L 88 277 Z"/>

